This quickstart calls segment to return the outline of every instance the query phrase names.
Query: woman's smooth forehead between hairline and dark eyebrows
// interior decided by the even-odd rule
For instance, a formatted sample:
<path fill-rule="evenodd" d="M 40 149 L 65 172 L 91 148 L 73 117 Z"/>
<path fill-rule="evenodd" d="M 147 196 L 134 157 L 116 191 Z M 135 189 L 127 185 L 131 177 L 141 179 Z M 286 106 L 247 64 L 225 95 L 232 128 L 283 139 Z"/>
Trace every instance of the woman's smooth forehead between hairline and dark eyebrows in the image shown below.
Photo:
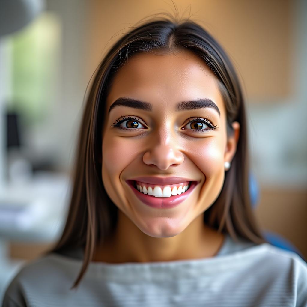
<path fill-rule="evenodd" d="M 190 51 L 169 54 L 142 52 L 129 58 L 116 72 L 106 110 L 119 97 L 153 104 L 153 112 L 169 109 L 180 101 L 209 98 L 224 117 L 224 103 L 214 72 Z"/>

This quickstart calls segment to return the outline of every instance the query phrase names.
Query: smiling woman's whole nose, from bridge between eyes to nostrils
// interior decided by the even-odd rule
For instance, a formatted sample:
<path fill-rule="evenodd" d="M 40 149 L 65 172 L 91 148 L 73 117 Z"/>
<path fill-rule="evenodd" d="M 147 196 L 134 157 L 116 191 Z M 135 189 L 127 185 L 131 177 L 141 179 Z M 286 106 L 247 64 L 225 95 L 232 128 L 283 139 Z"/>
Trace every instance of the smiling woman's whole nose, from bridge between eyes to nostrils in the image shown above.
<path fill-rule="evenodd" d="M 157 127 L 157 131 L 153 132 L 143 161 L 164 170 L 183 162 L 183 155 L 178 148 L 177 134 L 168 121 L 164 121 Z"/>

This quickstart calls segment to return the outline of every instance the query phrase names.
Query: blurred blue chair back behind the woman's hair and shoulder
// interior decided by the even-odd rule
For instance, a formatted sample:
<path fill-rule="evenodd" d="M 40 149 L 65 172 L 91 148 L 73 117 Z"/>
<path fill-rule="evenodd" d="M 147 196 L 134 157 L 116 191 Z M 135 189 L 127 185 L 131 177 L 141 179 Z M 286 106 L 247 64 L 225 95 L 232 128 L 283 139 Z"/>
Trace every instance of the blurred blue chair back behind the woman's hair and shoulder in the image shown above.
<path fill-rule="evenodd" d="M 259 200 L 259 186 L 256 178 L 252 173 L 249 174 L 249 188 L 250 188 L 251 206 L 253 209 L 255 209 L 258 205 L 258 200 Z M 272 231 L 264 231 L 263 236 L 270 244 L 282 248 L 286 251 L 293 251 L 306 261 L 301 252 L 292 243 L 283 238 L 281 235 L 278 235 Z"/>

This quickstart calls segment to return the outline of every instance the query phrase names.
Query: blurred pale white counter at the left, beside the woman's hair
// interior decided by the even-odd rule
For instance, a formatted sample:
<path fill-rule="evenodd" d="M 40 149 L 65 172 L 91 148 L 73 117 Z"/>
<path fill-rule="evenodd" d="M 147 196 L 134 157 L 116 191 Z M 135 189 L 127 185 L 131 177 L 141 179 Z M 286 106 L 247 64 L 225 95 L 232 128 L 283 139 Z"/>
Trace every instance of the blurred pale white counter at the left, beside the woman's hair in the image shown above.
<path fill-rule="evenodd" d="M 31 180 L 0 187 L 0 238 L 54 242 L 66 219 L 70 182 L 67 175 L 37 173 Z"/>

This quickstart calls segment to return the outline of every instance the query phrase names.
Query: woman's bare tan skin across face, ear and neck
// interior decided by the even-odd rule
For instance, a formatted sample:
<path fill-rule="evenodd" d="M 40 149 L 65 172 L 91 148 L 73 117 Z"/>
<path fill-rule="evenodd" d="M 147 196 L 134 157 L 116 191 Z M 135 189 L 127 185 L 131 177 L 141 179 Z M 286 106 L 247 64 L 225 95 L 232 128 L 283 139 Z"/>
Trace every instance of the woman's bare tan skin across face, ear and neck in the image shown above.
<path fill-rule="evenodd" d="M 153 111 L 119 106 L 108 114 L 119 97 L 152 103 Z M 178 102 L 199 98 L 212 99 L 221 114 L 213 108 L 174 111 Z M 127 115 L 137 117 L 137 128 L 124 131 L 112 126 Z M 218 128 L 193 132 L 195 123 L 187 124 L 193 117 L 208 119 Z M 129 129 L 129 121 L 120 126 Z M 224 162 L 231 162 L 235 154 L 239 123 L 232 126 L 235 133 L 227 139 L 226 109 L 217 79 L 192 52 L 140 53 L 129 58 L 107 96 L 102 133 L 103 184 L 119 208 L 118 227 L 114 237 L 97 247 L 93 261 L 152 262 L 216 255 L 224 235 L 204 225 L 203 216 L 223 187 Z M 138 200 L 126 183 L 146 175 L 189 177 L 200 183 L 179 206 L 157 209 Z"/>

